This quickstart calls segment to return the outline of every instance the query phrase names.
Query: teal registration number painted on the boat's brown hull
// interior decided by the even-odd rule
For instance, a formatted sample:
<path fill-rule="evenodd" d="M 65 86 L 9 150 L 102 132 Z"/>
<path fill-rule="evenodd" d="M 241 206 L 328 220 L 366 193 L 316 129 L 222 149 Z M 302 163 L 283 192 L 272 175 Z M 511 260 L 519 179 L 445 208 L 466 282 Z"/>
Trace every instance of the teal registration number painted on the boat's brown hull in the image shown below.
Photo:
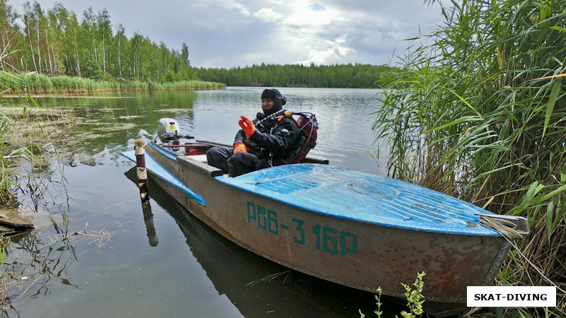
<path fill-rule="evenodd" d="M 293 241 L 298 245 L 314 245 L 318 250 L 326 253 L 346 257 L 348 253 L 357 254 L 358 237 L 356 234 L 315 224 L 311 228 L 305 227 L 305 221 L 291 218 L 290 224 L 284 224 L 277 219 L 277 211 L 248 201 L 248 224 L 257 226 L 273 235 L 285 231 L 293 235 Z"/>

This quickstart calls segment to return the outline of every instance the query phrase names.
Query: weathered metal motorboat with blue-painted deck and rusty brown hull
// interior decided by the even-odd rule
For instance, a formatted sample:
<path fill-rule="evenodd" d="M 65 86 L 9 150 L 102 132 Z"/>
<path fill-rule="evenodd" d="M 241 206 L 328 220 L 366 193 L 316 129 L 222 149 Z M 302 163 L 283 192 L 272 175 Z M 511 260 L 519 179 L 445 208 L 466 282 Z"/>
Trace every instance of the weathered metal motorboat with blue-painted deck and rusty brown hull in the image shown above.
<path fill-rule="evenodd" d="M 507 240 L 478 223 L 493 215 L 451 196 L 318 163 L 226 177 L 190 155 L 214 145 L 151 142 L 146 167 L 216 232 L 291 269 L 400 298 L 400 283 L 424 271 L 426 299 L 458 307 L 467 286 L 492 283 L 507 254 Z"/>

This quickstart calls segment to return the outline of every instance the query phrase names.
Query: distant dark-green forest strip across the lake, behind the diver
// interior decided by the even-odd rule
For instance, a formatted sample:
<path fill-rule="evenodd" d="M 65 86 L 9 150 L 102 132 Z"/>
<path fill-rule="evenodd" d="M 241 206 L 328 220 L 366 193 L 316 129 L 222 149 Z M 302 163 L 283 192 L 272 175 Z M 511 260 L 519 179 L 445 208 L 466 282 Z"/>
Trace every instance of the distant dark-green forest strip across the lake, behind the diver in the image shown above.
<path fill-rule="evenodd" d="M 391 71 L 391 67 L 370 64 L 261 64 L 231 69 L 200 68 L 195 71 L 202 81 L 226 83 L 227 86 L 374 88 L 376 81 L 381 80 L 381 73 Z"/>

